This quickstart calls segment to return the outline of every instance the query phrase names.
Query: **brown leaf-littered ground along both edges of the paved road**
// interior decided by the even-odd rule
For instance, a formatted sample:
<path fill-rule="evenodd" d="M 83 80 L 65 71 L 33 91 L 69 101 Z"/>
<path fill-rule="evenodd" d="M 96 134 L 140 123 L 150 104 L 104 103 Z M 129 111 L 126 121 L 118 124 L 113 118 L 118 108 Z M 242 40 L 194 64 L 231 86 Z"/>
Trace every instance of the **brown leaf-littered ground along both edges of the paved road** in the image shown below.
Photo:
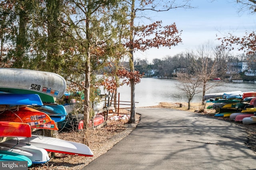
<path fill-rule="evenodd" d="M 180 107 L 182 104 L 182 107 Z M 151 108 L 171 108 L 177 110 L 191 111 L 197 113 L 197 111 L 203 106 L 201 103 L 190 103 L 190 110 L 187 110 L 188 103 L 186 102 L 160 102 L 157 106 L 149 106 Z M 206 103 L 206 107 L 210 105 Z M 128 114 L 129 111 L 126 109 L 121 109 L 120 113 Z M 208 115 L 209 117 L 214 117 L 215 109 L 205 109 L 204 113 L 199 113 Z M 216 117 L 216 119 L 222 119 L 224 121 L 230 121 L 229 117 Z M 109 120 L 108 123 L 99 129 L 88 129 L 86 131 L 62 131 L 58 133 L 60 139 L 80 142 L 83 143 L 84 140 L 88 141 L 88 147 L 94 153 L 92 157 L 84 156 L 73 156 L 73 155 L 62 155 L 55 153 L 47 164 L 33 164 L 28 168 L 28 170 L 80 170 L 88 165 L 92 160 L 96 159 L 100 155 L 106 153 L 111 149 L 116 143 L 124 139 L 129 135 L 133 129 L 136 128 L 140 120 L 140 115 L 135 115 L 136 123 L 129 124 L 128 120 Z M 235 123 L 235 122 L 233 122 Z M 256 139 L 253 137 L 256 134 L 256 125 L 243 125 L 242 123 L 236 123 L 242 129 L 247 132 L 248 143 L 246 146 L 256 152 Z M 88 139 L 88 140 L 87 140 Z M 49 153 L 49 156 L 51 154 Z"/>

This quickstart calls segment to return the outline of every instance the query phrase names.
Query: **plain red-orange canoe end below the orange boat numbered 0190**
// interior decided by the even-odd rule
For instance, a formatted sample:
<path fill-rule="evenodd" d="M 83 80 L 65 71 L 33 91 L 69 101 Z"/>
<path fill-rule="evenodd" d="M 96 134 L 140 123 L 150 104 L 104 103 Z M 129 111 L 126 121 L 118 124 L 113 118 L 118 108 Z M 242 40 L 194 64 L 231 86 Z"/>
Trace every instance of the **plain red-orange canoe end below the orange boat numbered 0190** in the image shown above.
<path fill-rule="evenodd" d="M 27 123 L 0 121 L 0 137 L 31 137 L 31 128 Z"/>

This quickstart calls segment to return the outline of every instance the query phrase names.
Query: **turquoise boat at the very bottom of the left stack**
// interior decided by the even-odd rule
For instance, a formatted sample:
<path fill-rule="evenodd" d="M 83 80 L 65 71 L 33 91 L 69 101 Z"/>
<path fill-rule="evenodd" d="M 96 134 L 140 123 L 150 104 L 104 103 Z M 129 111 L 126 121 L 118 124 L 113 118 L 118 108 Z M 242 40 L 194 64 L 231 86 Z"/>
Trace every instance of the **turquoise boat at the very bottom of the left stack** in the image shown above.
<path fill-rule="evenodd" d="M 18 167 L 20 167 L 20 165 L 19 165 L 20 161 L 27 161 L 28 162 L 27 167 L 30 167 L 32 165 L 32 161 L 28 157 L 26 157 L 24 155 L 16 154 L 16 153 L 8 152 L 8 151 L 3 151 L 3 150 L 0 150 L 0 161 L 15 161 L 15 164 Z M 16 162 L 16 161 L 18 161 L 18 162 Z"/>

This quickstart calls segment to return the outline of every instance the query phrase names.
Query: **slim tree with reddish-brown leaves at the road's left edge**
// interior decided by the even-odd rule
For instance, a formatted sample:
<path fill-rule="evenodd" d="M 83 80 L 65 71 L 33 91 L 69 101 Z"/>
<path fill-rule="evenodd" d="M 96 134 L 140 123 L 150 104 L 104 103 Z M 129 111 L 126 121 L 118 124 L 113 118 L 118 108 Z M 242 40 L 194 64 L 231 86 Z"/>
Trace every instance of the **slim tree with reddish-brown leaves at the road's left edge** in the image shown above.
<path fill-rule="evenodd" d="M 130 123 L 135 122 L 135 84 L 137 83 L 136 75 L 134 70 L 134 52 L 135 51 L 146 51 L 150 48 L 159 47 L 171 47 L 178 45 L 182 42 L 180 38 L 180 32 L 176 28 L 176 24 L 162 26 L 162 21 L 156 21 L 149 25 L 136 26 L 135 20 L 137 14 L 143 11 L 151 12 L 163 12 L 174 8 L 191 8 L 188 4 L 190 0 L 178 2 L 178 0 L 164 1 L 164 0 L 131 0 L 127 2 L 127 6 L 130 8 L 129 17 L 129 28 L 127 34 L 126 48 L 129 56 L 130 74 L 126 77 L 129 80 L 131 87 L 131 117 Z M 136 3 L 135 3 L 136 2 Z M 138 2 L 138 3 L 137 3 Z M 124 74 L 124 75 L 125 75 Z"/>

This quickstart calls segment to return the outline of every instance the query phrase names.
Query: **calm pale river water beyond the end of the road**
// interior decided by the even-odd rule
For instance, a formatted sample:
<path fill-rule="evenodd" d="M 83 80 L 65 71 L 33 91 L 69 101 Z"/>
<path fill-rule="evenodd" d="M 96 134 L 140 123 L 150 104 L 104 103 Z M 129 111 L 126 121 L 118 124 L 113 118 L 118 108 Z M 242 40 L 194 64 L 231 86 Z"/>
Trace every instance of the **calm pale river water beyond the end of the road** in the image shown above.
<path fill-rule="evenodd" d="M 142 78 L 135 86 L 135 102 L 138 102 L 136 107 L 155 106 L 160 102 L 188 102 L 186 94 L 178 88 L 179 84 L 177 80 Z M 256 83 L 225 83 L 208 90 L 206 94 L 230 91 L 256 91 Z M 118 88 L 118 93 L 120 101 L 130 101 L 130 86 Z M 202 93 L 196 94 L 192 99 L 192 102 L 201 101 Z"/>

